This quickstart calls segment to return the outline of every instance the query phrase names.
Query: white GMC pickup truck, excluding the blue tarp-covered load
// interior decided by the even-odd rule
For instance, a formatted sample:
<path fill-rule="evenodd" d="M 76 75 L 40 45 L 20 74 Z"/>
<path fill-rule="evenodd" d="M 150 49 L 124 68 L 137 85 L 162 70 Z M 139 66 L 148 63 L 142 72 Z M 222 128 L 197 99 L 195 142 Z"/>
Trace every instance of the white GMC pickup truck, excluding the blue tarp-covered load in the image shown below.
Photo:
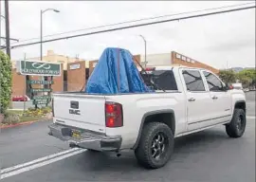
<path fill-rule="evenodd" d="M 141 72 L 154 93 L 53 94 L 49 135 L 89 152 L 135 151 L 146 168 L 164 166 L 174 138 L 225 125 L 229 137 L 246 129 L 246 99 L 208 70 L 157 66 Z"/>

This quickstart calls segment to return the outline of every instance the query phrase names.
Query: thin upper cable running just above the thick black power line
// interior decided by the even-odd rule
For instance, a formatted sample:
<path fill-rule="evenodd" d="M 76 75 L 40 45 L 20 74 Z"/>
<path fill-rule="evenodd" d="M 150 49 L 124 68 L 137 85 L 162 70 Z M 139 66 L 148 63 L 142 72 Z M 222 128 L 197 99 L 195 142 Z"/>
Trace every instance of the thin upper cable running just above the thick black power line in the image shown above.
<path fill-rule="evenodd" d="M 244 3 L 244 4 L 239 4 L 239 5 L 230 5 L 230 6 L 225 6 L 225 7 L 218 7 L 218 8 L 211 8 L 211 9 L 200 9 L 200 10 L 193 10 L 193 11 L 188 11 L 188 12 L 180 12 L 180 13 L 175 13 L 175 14 L 166 14 L 166 15 L 161 15 L 161 16 L 149 17 L 149 18 L 141 18 L 141 19 L 137 19 L 137 20 L 119 22 L 119 23 L 115 23 L 115 24 L 106 24 L 106 25 L 98 26 L 98 27 L 87 27 L 87 28 L 82 28 L 82 29 L 65 31 L 65 32 L 61 32 L 61 33 L 50 34 L 50 35 L 44 36 L 44 38 L 51 37 L 51 36 L 63 35 L 63 34 L 67 34 L 67 33 L 75 33 L 75 32 L 78 32 L 78 31 L 84 31 L 84 30 L 89 30 L 89 29 L 96 29 L 96 28 L 100 28 L 100 27 L 119 26 L 119 25 L 123 25 L 123 24 L 136 23 L 136 22 L 145 21 L 145 20 L 154 20 L 154 19 L 158 19 L 158 18 L 171 17 L 171 16 L 175 16 L 175 15 L 182 15 L 182 14 L 190 14 L 190 13 L 194 13 L 194 12 L 201 12 L 201 11 L 207 11 L 207 10 L 240 7 L 240 6 L 245 6 L 245 5 L 249 5 L 249 4 L 255 4 L 255 3 Z M 20 43 L 27 42 L 27 41 L 32 41 L 32 40 L 35 40 L 35 39 L 39 39 L 39 38 L 31 38 L 31 39 L 21 40 Z"/>

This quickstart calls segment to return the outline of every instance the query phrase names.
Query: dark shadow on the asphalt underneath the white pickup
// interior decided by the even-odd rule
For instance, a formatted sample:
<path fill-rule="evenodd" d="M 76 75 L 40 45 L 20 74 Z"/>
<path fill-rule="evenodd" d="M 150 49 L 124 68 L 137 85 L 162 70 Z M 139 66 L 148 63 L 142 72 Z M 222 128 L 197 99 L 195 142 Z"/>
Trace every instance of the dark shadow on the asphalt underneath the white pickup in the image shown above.
<path fill-rule="evenodd" d="M 175 139 L 174 155 L 167 166 L 172 163 L 184 160 L 189 155 L 198 155 L 198 153 L 208 153 L 219 146 L 222 142 L 230 140 L 223 130 L 207 130 L 186 137 Z M 117 156 L 115 153 L 92 153 L 84 152 L 79 159 L 83 170 L 85 171 L 147 171 L 137 164 L 137 159 L 133 151 L 125 151 Z M 184 156 L 186 156 L 184 158 Z M 85 162 L 86 161 L 86 162 Z M 85 162 L 85 163 L 84 163 Z M 184 161 L 185 162 L 185 161 Z M 84 169 L 85 168 L 85 169 Z"/>

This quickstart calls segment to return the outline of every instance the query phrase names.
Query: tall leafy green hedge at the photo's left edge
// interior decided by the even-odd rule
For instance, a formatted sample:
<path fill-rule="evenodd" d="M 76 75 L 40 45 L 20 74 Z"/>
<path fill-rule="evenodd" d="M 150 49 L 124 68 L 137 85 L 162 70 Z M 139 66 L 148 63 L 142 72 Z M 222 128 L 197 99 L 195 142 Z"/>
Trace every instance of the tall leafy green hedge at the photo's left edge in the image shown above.
<path fill-rule="evenodd" d="M 11 95 L 11 63 L 9 56 L 0 50 L 0 114 L 5 114 Z"/>

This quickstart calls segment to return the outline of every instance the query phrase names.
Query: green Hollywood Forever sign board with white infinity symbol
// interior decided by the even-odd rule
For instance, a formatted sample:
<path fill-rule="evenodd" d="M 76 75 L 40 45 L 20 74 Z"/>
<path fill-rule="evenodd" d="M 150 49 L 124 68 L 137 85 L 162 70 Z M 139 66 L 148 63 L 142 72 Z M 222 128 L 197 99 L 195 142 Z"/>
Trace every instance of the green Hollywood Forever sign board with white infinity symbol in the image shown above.
<path fill-rule="evenodd" d="M 16 67 L 21 75 L 61 76 L 61 64 L 57 63 L 17 61 Z"/>

